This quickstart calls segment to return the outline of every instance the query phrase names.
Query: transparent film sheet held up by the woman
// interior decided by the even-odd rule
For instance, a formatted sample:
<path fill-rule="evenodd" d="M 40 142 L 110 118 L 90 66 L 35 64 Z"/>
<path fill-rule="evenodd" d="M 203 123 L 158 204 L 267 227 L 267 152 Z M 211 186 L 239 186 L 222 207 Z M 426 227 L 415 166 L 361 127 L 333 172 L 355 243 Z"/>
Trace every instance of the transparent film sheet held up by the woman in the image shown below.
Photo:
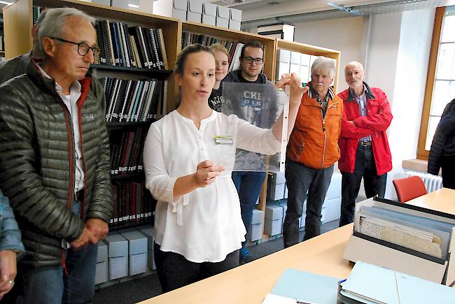
<path fill-rule="evenodd" d="M 271 129 L 283 113 L 281 148 L 274 155 L 237 149 L 234 171 L 283 172 L 288 138 L 289 88 L 275 89 L 271 83 L 250 84 L 223 82 L 223 110 L 225 115 L 237 115 L 262 129 Z M 235 136 L 235 134 L 233 134 Z M 237 140 L 235 140 L 237 142 Z"/>

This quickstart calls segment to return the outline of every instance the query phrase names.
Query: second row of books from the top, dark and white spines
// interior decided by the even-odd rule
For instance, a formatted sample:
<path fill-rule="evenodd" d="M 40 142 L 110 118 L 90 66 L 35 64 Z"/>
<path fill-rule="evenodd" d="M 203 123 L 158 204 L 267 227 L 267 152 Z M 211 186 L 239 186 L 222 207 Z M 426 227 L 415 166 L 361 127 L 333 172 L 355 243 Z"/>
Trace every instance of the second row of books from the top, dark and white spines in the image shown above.
<path fill-rule="evenodd" d="M 146 122 L 157 118 L 165 80 L 100 80 L 106 96 L 106 122 Z"/>

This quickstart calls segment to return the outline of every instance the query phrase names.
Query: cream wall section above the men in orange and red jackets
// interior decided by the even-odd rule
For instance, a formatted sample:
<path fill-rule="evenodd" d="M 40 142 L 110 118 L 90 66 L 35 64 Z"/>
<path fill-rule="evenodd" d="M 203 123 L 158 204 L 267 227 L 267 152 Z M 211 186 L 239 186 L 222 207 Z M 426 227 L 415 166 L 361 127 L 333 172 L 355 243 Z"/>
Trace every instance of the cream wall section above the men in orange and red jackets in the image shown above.
<path fill-rule="evenodd" d="M 359 61 L 363 17 L 301 22 L 295 24 L 294 41 L 341 51 L 338 90 L 346 89 L 344 66 Z"/>

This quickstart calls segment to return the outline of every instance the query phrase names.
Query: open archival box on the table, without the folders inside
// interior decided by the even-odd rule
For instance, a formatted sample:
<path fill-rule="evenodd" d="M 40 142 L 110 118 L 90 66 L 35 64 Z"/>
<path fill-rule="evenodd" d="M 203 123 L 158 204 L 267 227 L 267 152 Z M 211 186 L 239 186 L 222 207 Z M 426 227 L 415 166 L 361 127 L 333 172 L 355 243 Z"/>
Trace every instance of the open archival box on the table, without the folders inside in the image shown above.
<path fill-rule="evenodd" d="M 360 208 L 363 206 L 379 207 L 403 212 L 408 215 L 423 217 L 425 219 L 455 224 L 455 215 L 414 205 L 407 205 L 405 203 L 389 201 L 384 198 L 369 198 L 365 201 L 356 203 L 354 231 L 344 250 L 344 259 L 349 259 L 349 261 L 353 262 L 363 261 L 371 263 L 396 270 L 400 273 L 421 277 L 438 284 L 452 286 L 455 283 L 455 261 L 451 261 L 450 259 L 450 253 L 455 252 L 455 226 L 452 227 L 449 237 L 447 259 L 439 259 L 385 241 L 378 240 L 378 242 L 376 242 L 374 240 L 377 239 L 365 238 L 365 235 L 356 232 L 356 228 L 360 223 Z"/>

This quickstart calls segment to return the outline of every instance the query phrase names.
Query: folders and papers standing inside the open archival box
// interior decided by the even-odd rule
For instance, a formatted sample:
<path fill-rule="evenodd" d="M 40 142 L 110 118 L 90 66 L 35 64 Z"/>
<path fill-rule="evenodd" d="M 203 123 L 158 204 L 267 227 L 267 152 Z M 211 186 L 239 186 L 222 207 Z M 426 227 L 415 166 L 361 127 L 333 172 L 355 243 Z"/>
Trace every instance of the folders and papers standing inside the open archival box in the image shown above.
<path fill-rule="evenodd" d="M 356 232 L 373 240 L 447 260 L 453 227 L 454 224 L 435 219 L 364 205 L 360 207 Z"/>

